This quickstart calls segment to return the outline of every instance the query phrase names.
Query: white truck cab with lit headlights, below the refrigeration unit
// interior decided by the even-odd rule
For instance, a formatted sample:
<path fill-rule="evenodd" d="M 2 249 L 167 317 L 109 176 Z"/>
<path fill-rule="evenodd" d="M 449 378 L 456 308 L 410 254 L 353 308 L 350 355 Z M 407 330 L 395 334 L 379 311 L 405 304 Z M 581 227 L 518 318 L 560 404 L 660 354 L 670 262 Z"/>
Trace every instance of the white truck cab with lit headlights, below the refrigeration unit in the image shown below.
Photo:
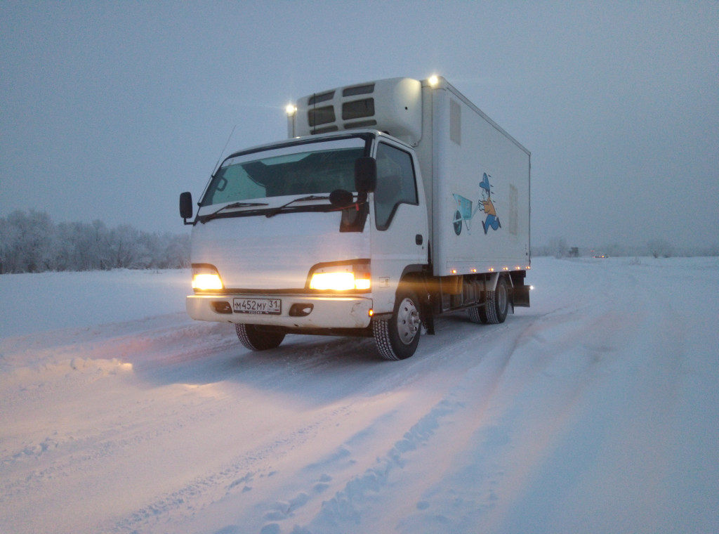
<path fill-rule="evenodd" d="M 188 313 L 241 325 L 254 349 L 287 332 L 372 335 L 428 264 L 424 198 L 411 147 L 376 130 L 234 153 L 193 221 Z"/>

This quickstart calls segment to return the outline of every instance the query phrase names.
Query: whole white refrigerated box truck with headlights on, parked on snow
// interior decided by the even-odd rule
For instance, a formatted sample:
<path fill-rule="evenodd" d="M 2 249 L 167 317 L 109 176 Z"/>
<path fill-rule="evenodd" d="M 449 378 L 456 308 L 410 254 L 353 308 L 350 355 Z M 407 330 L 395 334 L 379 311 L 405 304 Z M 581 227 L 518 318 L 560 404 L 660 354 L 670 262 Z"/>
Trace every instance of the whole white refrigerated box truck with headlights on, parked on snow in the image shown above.
<path fill-rule="evenodd" d="M 530 153 L 444 78 L 299 99 L 289 138 L 229 155 L 193 214 L 191 317 L 242 344 L 374 337 L 415 353 L 435 317 L 499 323 L 529 305 Z"/>

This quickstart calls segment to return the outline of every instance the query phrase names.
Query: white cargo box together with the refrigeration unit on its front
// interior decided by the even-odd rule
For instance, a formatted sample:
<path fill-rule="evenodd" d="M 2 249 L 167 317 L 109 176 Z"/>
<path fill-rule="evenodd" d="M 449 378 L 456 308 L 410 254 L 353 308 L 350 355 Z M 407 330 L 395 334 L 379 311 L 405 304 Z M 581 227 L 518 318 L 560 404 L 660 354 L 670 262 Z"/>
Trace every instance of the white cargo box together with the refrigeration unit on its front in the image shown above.
<path fill-rule="evenodd" d="M 311 94 L 288 122 L 290 137 L 355 128 L 415 148 L 435 276 L 529 266 L 531 155 L 444 78 L 389 78 Z"/>

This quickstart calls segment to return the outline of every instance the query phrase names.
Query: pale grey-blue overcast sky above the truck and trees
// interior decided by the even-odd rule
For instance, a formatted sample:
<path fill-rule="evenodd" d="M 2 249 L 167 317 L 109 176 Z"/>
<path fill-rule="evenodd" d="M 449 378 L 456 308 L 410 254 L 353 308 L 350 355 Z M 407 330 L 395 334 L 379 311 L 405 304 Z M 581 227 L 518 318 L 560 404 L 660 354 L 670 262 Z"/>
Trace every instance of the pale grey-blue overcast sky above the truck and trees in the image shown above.
<path fill-rule="evenodd" d="M 0 217 L 185 232 L 286 104 L 439 74 L 531 150 L 532 243 L 719 243 L 718 1 L 3 1 Z"/>

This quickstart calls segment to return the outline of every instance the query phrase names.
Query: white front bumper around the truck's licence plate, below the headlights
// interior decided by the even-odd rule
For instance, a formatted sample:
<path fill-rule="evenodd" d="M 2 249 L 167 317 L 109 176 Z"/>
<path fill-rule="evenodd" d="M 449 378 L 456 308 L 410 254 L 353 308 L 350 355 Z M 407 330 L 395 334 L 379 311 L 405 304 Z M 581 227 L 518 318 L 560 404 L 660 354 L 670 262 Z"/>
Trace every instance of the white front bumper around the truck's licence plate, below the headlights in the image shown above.
<path fill-rule="evenodd" d="M 280 299 L 279 314 L 234 311 L 234 299 L 268 298 Z M 365 328 L 370 325 L 372 319 L 370 316 L 372 299 L 357 296 L 211 294 L 190 295 L 185 304 L 190 317 L 200 321 L 239 322 L 247 325 L 271 325 L 300 330 Z"/>

